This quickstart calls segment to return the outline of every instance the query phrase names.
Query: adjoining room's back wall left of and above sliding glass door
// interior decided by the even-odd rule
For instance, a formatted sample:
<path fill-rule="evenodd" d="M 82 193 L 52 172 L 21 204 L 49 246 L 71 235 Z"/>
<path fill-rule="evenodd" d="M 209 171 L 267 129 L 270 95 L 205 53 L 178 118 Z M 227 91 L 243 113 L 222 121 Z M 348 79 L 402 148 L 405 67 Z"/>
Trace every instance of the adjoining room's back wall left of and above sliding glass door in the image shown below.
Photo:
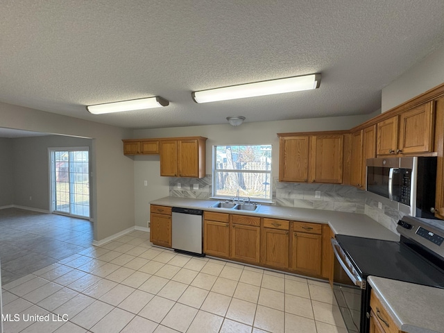
<path fill-rule="evenodd" d="M 14 205 L 45 211 L 50 210 L 48 148 L 87 146 L 92 150 L 92 139 L 61 135 L 22 137 L 11 142 Z"/>

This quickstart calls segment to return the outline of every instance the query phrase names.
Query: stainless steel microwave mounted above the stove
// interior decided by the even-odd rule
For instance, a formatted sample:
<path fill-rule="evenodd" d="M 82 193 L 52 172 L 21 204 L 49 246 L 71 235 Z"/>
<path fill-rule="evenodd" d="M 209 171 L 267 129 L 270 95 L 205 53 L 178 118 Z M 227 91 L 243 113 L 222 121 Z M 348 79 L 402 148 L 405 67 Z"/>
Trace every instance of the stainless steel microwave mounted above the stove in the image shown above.
<path fill-rule="evenodd" d="M 436 157 L 369 158 L 366 191 L 397 202 L 410 216 L 436 219 Z"/>

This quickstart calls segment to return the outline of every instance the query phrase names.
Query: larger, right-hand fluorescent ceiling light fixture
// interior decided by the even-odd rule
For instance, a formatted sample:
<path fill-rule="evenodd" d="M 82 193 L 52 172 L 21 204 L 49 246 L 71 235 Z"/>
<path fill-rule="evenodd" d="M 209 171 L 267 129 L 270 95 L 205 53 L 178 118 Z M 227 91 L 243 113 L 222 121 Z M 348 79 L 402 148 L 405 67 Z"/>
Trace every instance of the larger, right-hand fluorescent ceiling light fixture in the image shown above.
<path fill-rule="evenodd" d="M 316 89 L 321 84 L 321 74 L 279 78 L 245 85 L 214 88 L 192 92 L 196 103 L 226 101 L 228 99 L 244 99 L 246 97 L 282 94 L 284 92 L 299 92 L 301 90 Z"/>

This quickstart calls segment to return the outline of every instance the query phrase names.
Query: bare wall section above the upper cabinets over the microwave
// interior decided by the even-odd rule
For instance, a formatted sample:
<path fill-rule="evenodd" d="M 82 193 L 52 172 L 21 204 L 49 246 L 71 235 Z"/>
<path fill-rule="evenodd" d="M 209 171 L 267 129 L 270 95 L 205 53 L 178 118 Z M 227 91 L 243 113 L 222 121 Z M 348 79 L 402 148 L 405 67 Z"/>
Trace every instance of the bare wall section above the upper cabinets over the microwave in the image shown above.
<path fill-rule="evenodd" d="M 382 89 L 382 112 L 444 82 L 444 46 Z"/>

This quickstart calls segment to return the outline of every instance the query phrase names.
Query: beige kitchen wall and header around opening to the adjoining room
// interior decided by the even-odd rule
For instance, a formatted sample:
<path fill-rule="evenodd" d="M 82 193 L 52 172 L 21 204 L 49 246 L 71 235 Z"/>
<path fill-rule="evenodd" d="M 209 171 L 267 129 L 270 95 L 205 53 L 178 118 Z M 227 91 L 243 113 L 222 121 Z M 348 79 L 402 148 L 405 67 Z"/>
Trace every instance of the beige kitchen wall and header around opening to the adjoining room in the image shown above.
<path fill-rule="evenodd" d="M 0 114 L 2 127 L 92 138 L 94 239 L 134 226 L 134 163 L 121 142 L 130 130 L 6 103 Z"/>

